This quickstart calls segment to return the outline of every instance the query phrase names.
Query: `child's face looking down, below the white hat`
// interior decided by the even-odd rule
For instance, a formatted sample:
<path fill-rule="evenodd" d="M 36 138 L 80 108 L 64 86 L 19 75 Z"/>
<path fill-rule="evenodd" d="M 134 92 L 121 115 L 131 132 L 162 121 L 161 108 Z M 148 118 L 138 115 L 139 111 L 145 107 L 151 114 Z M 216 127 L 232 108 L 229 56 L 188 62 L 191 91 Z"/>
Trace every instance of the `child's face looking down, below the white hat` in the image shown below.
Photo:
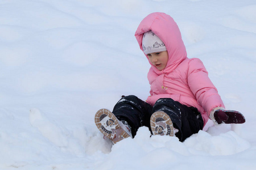
<path fill-rule="evenodd" d="M 149 53 L 147 54 L 148 59 L 158 70 L 163 70 L 168 61 L 168 52 L 156 52 L 156 53 Z"/>

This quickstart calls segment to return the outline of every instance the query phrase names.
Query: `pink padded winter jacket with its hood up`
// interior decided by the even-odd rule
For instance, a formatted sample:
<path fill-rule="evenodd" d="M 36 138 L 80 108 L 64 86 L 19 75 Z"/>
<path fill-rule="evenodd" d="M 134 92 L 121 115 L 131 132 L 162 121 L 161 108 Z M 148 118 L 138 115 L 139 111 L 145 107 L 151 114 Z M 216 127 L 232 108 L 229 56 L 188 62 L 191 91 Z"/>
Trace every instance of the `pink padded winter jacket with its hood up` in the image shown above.
<path fill-rule="evenodd" d="M 168 62 L 162 71 L 151 65 L 147 75 L 151 96 L 148 96 L 147 103 L 154 105 L 160 98 L 174 99 L 188 107 L 197 108 L 205 125 L 210 112 L 217 107 L 224 108 L 224 104 L 210 81 L 203 62 L 198 58 L 187 58 L 179 27 L 171 16 L 155 12 L 142 20 L 135 32 L 141 49 L 143 33 L 149 30 L 166 45 Z"/>

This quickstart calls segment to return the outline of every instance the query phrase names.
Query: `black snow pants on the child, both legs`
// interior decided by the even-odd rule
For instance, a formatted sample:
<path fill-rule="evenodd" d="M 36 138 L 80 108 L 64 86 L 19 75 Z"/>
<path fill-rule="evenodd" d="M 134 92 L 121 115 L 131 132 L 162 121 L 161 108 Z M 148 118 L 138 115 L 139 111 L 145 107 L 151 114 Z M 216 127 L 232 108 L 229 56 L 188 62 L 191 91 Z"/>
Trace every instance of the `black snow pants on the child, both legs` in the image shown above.
<path fill-rule="evenodd" d="M 158 111 L 163 111 L 170 116 L 174 128 L 179 130 L 175 136 L 181 142 L 203 129 L 203 118 L 196 108 L 187 107 L 171 98 L 159 99 L 154 106 L 151 106 L 136 96 L 123 96 L 115 104 L 112 113 L 118 120 L 127 121 L 131 126 L 131 133 L 134 137 L 141 126 L 147 126 L 151 131 L 150 117 L 154 112 Z"/>

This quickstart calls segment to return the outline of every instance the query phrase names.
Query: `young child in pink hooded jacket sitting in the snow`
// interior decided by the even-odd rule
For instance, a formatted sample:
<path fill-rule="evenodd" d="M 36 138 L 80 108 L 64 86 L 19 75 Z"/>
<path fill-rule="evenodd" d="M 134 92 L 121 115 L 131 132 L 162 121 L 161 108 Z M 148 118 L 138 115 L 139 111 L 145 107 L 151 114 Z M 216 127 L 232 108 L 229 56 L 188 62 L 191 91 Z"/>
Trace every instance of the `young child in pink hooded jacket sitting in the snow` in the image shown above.
<path fill-rule="evenodd" d="M 171 16 L 155 12 L 139 24 L 135 37 L 151 68 L 146 102 L 123 96 L 113 112 L 96 113 L 97 128 L 117 143 L 134 137 L 141 126 L 153 135 L 176 136 L 182 142 L 202 130 L 208 119 L 216 124 L 242 124 L 243 115 L 225 111 L 216 87 L 198 58 L 187 58 L 177 24 Z"/>

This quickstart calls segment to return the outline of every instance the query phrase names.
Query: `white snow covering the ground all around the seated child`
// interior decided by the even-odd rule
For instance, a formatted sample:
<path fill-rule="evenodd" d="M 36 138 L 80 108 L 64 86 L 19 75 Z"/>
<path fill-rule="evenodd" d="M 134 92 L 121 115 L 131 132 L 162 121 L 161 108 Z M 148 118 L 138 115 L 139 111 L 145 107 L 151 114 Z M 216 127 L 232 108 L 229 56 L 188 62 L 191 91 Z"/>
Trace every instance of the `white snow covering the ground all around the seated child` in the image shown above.
<path fill-rule="evenodd" d="M 183 143 L 142 127 L 112 146 L 94 125 L 122 95 L 146 100 L 150 67 L 135 40 L 166 12 L 242 125 Z M 0 169 L 256 169 L 256 2 L 0 1 Z"/>

